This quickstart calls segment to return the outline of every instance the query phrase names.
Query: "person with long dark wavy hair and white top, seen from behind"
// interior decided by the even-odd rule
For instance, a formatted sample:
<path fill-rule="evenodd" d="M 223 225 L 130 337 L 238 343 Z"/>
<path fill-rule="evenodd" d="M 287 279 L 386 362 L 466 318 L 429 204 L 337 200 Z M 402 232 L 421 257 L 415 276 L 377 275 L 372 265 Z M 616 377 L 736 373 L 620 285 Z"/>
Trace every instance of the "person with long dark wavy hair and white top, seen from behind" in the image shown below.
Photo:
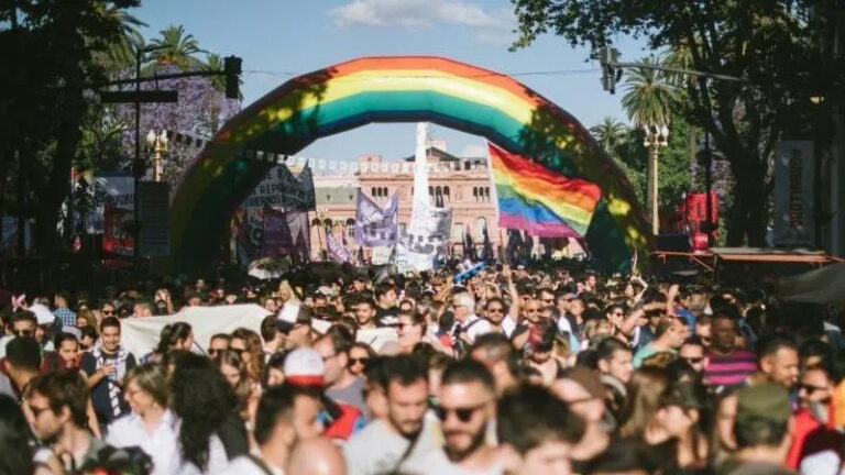
<path fill-rule="evenodd" d="M 194 472 L 217 474 L 249 451 L 238 398 L 210 360 L 180 354 L 171 377 L 171 409 L 180 420 L 179 455 Z"/>

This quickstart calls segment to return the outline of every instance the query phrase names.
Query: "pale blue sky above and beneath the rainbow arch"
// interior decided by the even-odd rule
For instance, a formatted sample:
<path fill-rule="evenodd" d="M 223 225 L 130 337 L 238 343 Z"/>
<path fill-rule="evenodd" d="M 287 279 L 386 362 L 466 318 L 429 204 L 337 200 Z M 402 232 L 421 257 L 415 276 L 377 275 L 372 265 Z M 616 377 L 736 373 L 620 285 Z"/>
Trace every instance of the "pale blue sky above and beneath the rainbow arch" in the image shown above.
<path fill-rule="evenodd" d="M 515 35 L 508 0 L 144 0 L 133 14 L 154 37 L 182 24 L 200 45 L 243 58 L 244 104 L 303 73 L 378 55 L 438 55 L 514 75 L 568 110 L 586 126 L 605 115 L 627 121 L 616 96 L 602 90 L 589 52 L 545 36 L 508 52 Z M 615 41 L 623 59 L 647 55 L 640 42 Z M 592 70 L 591 70 L 592 69 Z M 574 71 L 574 73 L 548 73 Z M 380 153 L 386 159 L 414 152 L 414 124 L 373 124 L 326 137 L 303 155 L 351 159 Z M 483 139 L 434 125 L 449 151 L 474 155 Z"/>

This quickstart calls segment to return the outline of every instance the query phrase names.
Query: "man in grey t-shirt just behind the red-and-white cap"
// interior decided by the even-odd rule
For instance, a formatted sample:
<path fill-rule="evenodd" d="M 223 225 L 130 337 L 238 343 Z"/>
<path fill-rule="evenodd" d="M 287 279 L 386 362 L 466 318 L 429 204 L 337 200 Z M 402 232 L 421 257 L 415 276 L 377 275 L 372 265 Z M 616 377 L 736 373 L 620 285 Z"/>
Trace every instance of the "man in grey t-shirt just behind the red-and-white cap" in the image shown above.
<path fill-rule="evenodd" d="M 364 379 L 355 376 L 350 368 L 349 351 L 353 343 L 353 335 L 345 327 L 333 325 L 314 342 L 314 349 L 326 365 L 326 395 L 366 413 Z"/>

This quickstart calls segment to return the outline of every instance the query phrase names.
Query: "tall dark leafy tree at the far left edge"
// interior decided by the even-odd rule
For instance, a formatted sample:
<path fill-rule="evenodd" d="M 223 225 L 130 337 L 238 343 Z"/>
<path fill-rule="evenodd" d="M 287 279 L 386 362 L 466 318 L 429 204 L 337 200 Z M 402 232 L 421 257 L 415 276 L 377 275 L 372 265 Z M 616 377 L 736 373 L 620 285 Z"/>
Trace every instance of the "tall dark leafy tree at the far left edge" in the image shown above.
<path fill-rule="evenodd" d="M 121 35 L 122 23 L 110 11 L 138 4 L 139 0 L 0 3 L 0 54 L 14 65 L 0 75 L 0 126 L 14 137 L 0 141 L 0 156 L 4 164 L 19 164 L 14 174 L 7 165 L 0 169 L 0 179 L 11 185 L 3 187 L 3 201 L 14 199 L 15 213 L 35 218 L 34 241 L 42 253 L 61 248 L 56 223 L 81 137 L 85 90 L 103 80 L 96 58 Z"/>

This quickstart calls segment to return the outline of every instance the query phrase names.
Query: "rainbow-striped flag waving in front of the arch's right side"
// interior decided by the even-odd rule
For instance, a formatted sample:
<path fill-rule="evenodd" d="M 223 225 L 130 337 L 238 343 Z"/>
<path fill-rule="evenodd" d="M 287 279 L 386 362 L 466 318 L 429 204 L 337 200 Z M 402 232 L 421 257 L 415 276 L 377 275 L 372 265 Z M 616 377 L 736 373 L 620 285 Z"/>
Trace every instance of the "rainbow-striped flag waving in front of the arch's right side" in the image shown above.
<path fill-rule="evenodd" d="M 487 143 L 498 225 L 541 238 L 583 238 L 602 190 Z"/>

